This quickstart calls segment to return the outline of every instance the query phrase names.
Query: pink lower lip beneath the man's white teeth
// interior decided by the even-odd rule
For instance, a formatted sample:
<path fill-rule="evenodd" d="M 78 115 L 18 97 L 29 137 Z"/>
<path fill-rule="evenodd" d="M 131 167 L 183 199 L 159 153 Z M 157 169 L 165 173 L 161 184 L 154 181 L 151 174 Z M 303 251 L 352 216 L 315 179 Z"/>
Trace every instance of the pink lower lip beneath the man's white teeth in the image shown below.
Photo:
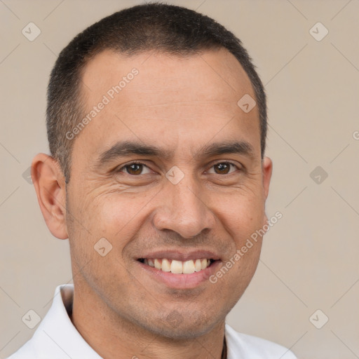
<path fill-rule="evenodd" d="M 204 256 L 205 257 L 205 256 Z M 161 257 L 156 257 L 161 258 Z M 162 257 L 165 258 L 165 257 Z M 188 259 L 193 259 L 192 257 L 186 257 Z M 175 259 L 172 257 L 171 259 Z M 186 260 L 186 259 L 177 259 L 177 260 Z M 156 269 L 154 267 L 148 266 L 142 262 L 136 261 L 140 266 L 141 271 L 144 271 L 145 275 L 149 276 L 156 282 L 164 284 L 166 287 L 172 289 L 193 289 L 198 287 L 205 282 L 210 283 L 208 278 L 212 276 L 216 271 L 218 271 L 219 266 L 222 264 L 221 260 L 216 260 L 206 269 L 203 269 L 199 272 L 194 272 L 191 274 L 175 274 L 171 272 L 161 271 L 161 269 Z"/>

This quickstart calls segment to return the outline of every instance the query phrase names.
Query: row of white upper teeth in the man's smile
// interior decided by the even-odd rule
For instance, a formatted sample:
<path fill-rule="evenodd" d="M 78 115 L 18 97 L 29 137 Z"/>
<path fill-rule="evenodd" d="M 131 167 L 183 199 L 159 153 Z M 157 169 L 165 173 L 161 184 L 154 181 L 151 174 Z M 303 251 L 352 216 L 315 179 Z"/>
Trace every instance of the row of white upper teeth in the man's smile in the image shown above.
<path fill-rule="evenodd" d="M 210 265 L 210 259 L 190 259 L 186 262 L 167 258 L 144 259 L 144 264 L 165 272 L 190 274 L 206 269 Z"/>

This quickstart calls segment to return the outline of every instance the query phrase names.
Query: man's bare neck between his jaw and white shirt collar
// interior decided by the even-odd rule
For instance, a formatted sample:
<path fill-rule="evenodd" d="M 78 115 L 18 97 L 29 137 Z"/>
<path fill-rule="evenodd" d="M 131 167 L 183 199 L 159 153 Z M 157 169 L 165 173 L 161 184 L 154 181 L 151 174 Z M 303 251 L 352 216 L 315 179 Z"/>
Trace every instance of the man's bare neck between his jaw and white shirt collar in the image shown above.
<path fill-rule="evenodd" d="M 161 337 L 119 317 L 93 293 L 81 291 L 74 293 L 70 318 L 83 339 L 104 359 L 222 359 L 224 321 L 191 339 Z"/>

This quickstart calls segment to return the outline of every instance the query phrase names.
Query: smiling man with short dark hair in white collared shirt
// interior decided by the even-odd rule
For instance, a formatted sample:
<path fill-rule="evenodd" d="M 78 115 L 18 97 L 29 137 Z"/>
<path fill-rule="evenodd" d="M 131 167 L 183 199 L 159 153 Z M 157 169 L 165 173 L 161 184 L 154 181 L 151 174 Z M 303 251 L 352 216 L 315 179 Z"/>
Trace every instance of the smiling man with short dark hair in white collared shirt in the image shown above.
<path fill-rule="evenodd" d="M 74 286 L 12 359 L 295 358 L 225 325 L 257 268 L 272 169 L 241 41 L 177 6 L 114 13 L 60 53 L 47 126 L 32 178 Z"/>

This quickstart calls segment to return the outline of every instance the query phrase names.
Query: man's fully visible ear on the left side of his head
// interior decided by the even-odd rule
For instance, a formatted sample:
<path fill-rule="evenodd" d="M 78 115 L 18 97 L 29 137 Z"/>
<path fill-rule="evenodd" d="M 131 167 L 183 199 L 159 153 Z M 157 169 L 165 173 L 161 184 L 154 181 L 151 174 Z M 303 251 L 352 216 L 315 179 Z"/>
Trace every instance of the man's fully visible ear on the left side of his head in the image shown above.
<path fill-rule="evenodd" d="M 48 229 L 56 238 L 66 239 L 65 177 L 59 163 L 51 156 L 38 154 L 32 161 L 31 175 Z"/>

